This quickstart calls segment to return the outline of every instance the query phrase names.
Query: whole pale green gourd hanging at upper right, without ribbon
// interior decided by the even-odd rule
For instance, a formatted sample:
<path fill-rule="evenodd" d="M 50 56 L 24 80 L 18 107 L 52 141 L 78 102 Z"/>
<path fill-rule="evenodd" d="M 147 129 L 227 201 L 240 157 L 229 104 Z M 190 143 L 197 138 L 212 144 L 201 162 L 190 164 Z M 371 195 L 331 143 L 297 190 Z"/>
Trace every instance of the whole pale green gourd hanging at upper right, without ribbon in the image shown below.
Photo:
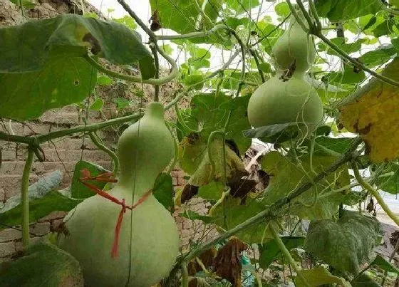
<path fill-rule="evenodd" d="M 291 16 L 289 28 L 271 51 L 278 73 L 252 93 L 249 122 L 253 127 L 296 122 L 306 134 L 314 131 L 323 119 L 323 104 L 304 80 L 315 57 L 313 42 Z"/>

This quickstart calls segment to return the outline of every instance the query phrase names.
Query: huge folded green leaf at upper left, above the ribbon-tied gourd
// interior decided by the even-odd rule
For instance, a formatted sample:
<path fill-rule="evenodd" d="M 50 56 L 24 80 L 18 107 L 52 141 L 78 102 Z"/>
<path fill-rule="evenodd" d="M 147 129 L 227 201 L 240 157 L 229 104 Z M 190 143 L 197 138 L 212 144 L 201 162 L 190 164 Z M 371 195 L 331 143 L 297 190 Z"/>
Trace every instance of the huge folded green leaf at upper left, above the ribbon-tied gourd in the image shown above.
<path fill-rule="evenodd" d="M 138 33 L 122 24 L 73 14 L 0 28 L 0 117 L 27 120 L 90 95 L 96 69 L 88 47 L 112 63 L 139 62 L 142 77 L 155 73 Z"/>

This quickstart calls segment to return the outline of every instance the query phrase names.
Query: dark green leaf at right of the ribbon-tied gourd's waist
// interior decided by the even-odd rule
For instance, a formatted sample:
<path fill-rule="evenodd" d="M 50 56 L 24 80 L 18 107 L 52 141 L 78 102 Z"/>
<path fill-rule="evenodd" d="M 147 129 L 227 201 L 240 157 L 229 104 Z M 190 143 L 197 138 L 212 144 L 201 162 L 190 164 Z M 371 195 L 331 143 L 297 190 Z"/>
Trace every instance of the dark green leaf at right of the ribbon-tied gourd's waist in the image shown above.
<path fill-rule="evenodd" d="M 175 211 L 175 203 L 173 202 L 173 184 L 172 177 L 170 174 L 162 172 L 155 179 L 154 187 L 152 188 L 152 194 L 165 209 L 170 212 Z"/>

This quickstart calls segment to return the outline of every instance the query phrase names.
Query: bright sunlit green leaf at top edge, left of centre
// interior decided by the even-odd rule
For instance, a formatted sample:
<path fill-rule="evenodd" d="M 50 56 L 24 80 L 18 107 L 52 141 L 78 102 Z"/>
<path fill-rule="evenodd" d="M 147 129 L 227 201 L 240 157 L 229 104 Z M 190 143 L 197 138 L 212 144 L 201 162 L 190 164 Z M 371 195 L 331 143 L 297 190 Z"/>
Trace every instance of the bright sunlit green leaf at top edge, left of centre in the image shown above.
<path fill-rule="evenodd" d="M 202 6 L 204 0 L 198 0 Z M 170 28 L 177 33 L 188 33 L 196 31 L 196 22 L 199 12 L 195 6 L 195 1 L 191 0 L 150 0 L 151 11 L 157 11 L 162 28 Z M 217 19 L 219 11 L 222 9 L 222 0 L 208 1 L 205 6 L 205 14 L 212 21 Z M 203 28 L 212 28 L 212 25 L 202 19 L 205 24 Z"/>

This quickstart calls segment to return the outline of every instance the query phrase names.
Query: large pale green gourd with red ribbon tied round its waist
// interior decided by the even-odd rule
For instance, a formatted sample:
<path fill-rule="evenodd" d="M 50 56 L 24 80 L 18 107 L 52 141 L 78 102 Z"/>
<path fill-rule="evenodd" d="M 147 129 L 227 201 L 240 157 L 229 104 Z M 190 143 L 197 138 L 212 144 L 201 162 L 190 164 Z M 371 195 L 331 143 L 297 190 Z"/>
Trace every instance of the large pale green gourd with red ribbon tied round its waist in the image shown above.
<path fill-rule="evenodd" d="M 150 103 L 145 115 L 118 140 L 120 177 L 110 195 L 137 202 L 174 155 L 174 142 L 160 103 Z M 127 209 L 120 228 L 118 257 L 111 258 L 115 224 L 121 207 L 95 195 L 64 219 L 69 235 L 59 239 L 83 268 L 85 286 L 148 287 L 165 277 L 177 257 L 179 236 L 170 213 L 150 194 L 135 209 Z M 130 233 L 131 231 L 131 233 Z"/>

